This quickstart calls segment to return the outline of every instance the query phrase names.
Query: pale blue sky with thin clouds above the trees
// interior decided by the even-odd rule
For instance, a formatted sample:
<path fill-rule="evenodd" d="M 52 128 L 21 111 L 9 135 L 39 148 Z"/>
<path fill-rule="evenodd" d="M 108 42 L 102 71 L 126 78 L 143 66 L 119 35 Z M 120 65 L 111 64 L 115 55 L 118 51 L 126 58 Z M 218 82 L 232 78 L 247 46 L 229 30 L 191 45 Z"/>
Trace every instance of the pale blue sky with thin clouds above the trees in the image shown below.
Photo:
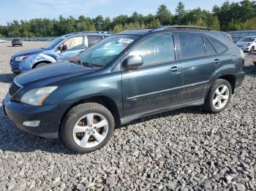
<path fill-rule="evenodd" d="M 186 9 L 200 7 L 211 11 L 215 4 L 221 6 L 226 0 L 0 0 L 0 25 L 12 20 L 29 20 L 36 17 L 50 19 L 64 17 L 116 17 L 132 15 L 138 12 L 143 15 L 155 14 L 160 4 L 165 4 L 174 14 L 178 1 L 185 4 Z M 241 0 L 232 0 L 239 2 Z M 230 1 L 231 2 L 231 1 Z"/>

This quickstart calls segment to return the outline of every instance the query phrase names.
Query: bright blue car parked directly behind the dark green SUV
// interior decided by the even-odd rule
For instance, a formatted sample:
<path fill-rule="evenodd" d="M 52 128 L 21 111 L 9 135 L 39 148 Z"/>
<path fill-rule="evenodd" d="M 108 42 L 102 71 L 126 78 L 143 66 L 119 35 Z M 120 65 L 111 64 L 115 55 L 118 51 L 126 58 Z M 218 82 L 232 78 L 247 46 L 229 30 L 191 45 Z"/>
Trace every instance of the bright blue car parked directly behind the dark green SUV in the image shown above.
<path fill-rule="evenodd" d="M 59 36 L 46 47 L 12 55 L 10 61 L 12 72 L 20 74 L 49 63 L 66 61 L 108 36 L 110 36 L 109 32 L 79 32 Z"/>

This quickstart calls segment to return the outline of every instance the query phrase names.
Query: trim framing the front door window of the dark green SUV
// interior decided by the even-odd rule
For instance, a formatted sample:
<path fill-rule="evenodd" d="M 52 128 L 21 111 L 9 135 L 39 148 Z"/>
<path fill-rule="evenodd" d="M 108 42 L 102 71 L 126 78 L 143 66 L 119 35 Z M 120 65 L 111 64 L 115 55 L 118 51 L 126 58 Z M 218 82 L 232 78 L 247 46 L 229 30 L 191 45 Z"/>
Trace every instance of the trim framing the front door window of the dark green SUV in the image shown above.
<path fill-rule="evenodd" d="M 138 69 L 142 69 L 142 68 L 145 68 L 145 67 L 149 67 L 149 66 L 157 66 L 159 64 L 165 64 L 165 63 L 173 63 L 173 62 L 176 62 L 177 61 L 177 55 L 176 55 L 176 41 L 175 41 L 175 38 L 174 38 L 174 34 L 173 33 L 170 33 L 170 32 L 165 32 L 165 33 L 161 33 L 161 34 L 152 34 L 150 36 L 146 36 L 146 38 L 143 38 L 141 39 L 138 44 L 135 44 L 134 47 L 132 47 L 132 49 L 129 50 L 129 52 L 127 52 L 127 54 L 124 56 L 124 59 L 121 59 L 121 64 L 123 63 L 123 61 L 129 57 L 129 53 L 132 52 L 133 50 L 135 50 L 136 47 L 140 46 L 143 42 L 145 42 L 147 39 L 149 38 L 153 38 L 155 36 L 162 36 L 162 35 L 169 35 L 169 36 L 172 36 L 173 37 L 173 46 L 174 46 L 174 60 L 173 61 L 165 61 L 165 62 L 161 62 L 161 63 L 152 63 L 152 64 L 149 64 L 149 65 L 144 65 L 143 66 L 140 66 L 138 67 Z M 121 66 L 122 67 L 122 66 Z"/>

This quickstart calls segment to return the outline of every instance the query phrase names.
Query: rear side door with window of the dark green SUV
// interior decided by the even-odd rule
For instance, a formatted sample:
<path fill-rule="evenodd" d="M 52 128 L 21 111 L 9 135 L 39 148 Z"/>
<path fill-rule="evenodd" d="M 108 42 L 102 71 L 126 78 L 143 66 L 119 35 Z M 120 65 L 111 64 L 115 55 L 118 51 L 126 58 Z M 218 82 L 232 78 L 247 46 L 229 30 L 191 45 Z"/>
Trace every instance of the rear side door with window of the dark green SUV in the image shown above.
<path fill-rule="evenodd" d="M 190 33 L 177 36 L 182 66 L 179 104 L 203 101 L 211 77 L 222 67 L 222 58 L 207 36 Z"/>

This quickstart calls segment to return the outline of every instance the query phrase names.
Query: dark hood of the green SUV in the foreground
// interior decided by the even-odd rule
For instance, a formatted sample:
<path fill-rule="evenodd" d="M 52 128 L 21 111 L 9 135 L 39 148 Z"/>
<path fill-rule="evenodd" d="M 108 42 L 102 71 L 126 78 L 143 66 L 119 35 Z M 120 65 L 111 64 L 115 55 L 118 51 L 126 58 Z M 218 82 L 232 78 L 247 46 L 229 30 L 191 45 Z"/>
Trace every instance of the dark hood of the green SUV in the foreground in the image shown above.
<path fill-rule="evenodd" d="M 15 78 L 15 81 L 22 86 L 33 85 L 36 87 L 42 87 L 55 82 L 60 82 L 64 79 L 78 77 L 81 74 L 89 74 L 96 70 L 96 68 L 89 68 L 75 63 L 69 63 L 67 61 L 26 71 L 23 74 L 18 75 L 18 77 Z"/>

